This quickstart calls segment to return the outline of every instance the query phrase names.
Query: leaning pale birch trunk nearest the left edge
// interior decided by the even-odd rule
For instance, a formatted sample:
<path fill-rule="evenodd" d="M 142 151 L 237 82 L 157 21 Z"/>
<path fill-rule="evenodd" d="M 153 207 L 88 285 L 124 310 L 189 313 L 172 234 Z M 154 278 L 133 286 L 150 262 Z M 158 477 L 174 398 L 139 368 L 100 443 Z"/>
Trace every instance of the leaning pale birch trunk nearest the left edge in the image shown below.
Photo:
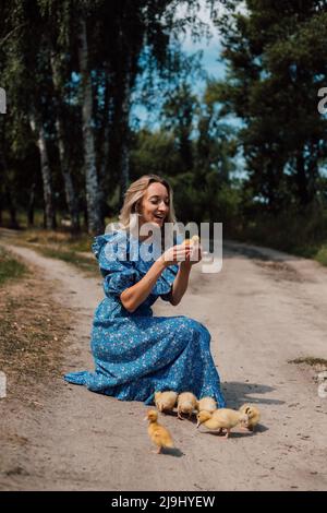
<path fill-rule="evenodd" d="M 37 135 L 37 146 L 39 148 L 40 168 L 44 183 L 44 200 L 45 200 L 45 222 L 47 229 L 56 229 L 56 212 L 53 203 L 52 191 L 52 177 L 49 165 L 47 142 L 45 136 L 45 129 L 43 122 L 36 122 L 34 115 L 29 116 L 29 123 L 32 130 Z"/>

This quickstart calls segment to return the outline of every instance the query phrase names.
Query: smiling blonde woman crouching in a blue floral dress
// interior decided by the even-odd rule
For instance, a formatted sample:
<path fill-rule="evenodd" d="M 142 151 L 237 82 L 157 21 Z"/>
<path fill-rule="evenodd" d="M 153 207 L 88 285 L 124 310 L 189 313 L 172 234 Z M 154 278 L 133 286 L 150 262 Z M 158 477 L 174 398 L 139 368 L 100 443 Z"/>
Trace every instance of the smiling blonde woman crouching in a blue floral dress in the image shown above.
<path fill-rule="evenodd" d="M 184 315 L 153 317 L 150 308 L 159 297 L 173 306 L 181 301 L 196 263 L 190 247 L 173 246 L 150 261 L 134 261 L 131 254 L 135 249 L 142 254 L 149 238 L 140 231 L 133 236 L 131 214 L 138 215 L 140 227 L 150 223 L 164 234 L 165 223 L 175 220 L 169 183 L 155 175 L 136 180 L 120 215 L 125 229 L 95 238 L 93 250 L 106 295 L 95 311 L 92 332 L 95 372 L 64 378 L 123 401 L 150 404 L 156 391 L 173 390 L 215 397 L 223 407 L 207 329 Z"/>

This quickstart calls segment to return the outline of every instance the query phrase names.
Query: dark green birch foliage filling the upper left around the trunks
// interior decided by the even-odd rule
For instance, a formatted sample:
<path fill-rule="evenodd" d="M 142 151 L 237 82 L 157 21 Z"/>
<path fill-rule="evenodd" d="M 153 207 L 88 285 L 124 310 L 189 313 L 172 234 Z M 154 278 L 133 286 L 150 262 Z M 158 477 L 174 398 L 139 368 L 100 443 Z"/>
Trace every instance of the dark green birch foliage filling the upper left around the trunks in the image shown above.
<path fill-rule="evenodd" d="M 183 7 L 186 15 L 178 21 L 177 11 Z M 0 206 L 10 210 L 12 226 L 19 207 L 43 207 L 44 202 L 50 203 L 49 196 L 55 196 L 57 210 L 68 208 L 70 215 L 73 203 L 85 211 L 89 199 L 83 174 L 83 83 L 78 62 L 82 22 L 86 23 L 94 100 L 88 123 L 93 127 L 95 174 L 100 184 L 100 192 L 95 194 L 100 196 L 105 217 L 120 206 L 117 195 L 121 195 L 129 178 L 129 116 L 137 77 L 145 65 L 149 75 L 152 70 L 153 75 L 160 73 L 166 83 L 174 82 L 174 86 L 184 76 L 191 79 L 196 59 L 180 56 L 175 36 L 190 26 L 194 37 L 205 33 L 196 15 L 198 8 L 198 0 L 0 2 L 0 85 L 9 98 L 8 115 L 0 117 Z M 146 52 L 145 62 L 142 56 Z M 145 80 L 144 97 L 147 86 Z M 38 130 L 31 130 L 32 116 L 45 129 L 49 153 L 52 191 L 46 198 L 36 147 Z M 61 152 L 59 158 L 60 119 L 64 156 Z M 71 196 L 64 178 L 68 170 L 73 182 L 71 191 L 77 191 Z M 133 172 L 138 175 L 138 169 Z"/>

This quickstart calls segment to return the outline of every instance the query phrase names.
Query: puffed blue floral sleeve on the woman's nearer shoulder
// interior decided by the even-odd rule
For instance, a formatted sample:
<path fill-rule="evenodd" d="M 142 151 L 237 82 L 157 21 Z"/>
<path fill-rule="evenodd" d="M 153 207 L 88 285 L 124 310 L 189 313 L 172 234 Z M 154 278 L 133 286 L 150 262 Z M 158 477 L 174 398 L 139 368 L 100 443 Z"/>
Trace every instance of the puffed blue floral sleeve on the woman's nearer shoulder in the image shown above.
<path fill-rule="evenodd" d="M 120 296 L 141 279 L 135 262 L 129 261 L 129 243 L 120 235 L 104 235 L 95 238 L 93 251 L 98 259 L 105 278 L 106 295 Z"/>

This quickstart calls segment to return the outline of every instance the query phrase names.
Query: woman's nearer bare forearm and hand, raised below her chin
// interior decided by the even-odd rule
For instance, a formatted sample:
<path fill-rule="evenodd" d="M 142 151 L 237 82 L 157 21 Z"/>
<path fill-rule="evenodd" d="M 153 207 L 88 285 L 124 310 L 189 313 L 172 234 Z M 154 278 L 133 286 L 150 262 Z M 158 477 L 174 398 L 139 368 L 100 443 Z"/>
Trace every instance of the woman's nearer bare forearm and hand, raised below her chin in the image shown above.
<path fill-rule="evenodd" d="M 187 258 L 190 255 L 190 249 L 183 246 L 174 246 L 164 253 L 152 267 L 148 270 L 145 276 L 132 287 L 126 288 L 121 295 L 120 300 L 123 307 L 131 313 L 133 313 L 141 303 L 143 303 L 149 296 L 152 289 L 156 285 L 157 279 L 161 275 L 162 271 L 173 263 L 177 263 L 181 258 Z M 166 258 L 165 258 L 166 256 Z M 177 278 L 175 278 L 177 279 Z M 187 287 L 187 284 L 186 284 Z"/>

